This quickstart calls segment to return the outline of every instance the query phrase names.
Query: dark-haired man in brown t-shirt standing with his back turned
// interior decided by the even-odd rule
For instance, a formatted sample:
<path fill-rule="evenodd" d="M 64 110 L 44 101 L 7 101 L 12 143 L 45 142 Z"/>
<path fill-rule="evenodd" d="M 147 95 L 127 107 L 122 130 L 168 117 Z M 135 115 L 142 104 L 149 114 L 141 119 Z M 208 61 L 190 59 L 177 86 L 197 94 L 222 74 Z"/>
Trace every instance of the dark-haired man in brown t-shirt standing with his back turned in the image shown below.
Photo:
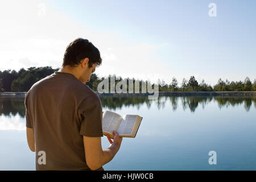
<path fill-rule="evenodd" d="M 36 152 L 36 170 L 104 170 L 119 150 L 114 131 L 110 146 L 101 147 L 102 106 L 86 86 L 101 65 L 100 51 L 86 39 L 71 42 L 63 66 L 36 82 L 25 98 L 27 142 Z"/>

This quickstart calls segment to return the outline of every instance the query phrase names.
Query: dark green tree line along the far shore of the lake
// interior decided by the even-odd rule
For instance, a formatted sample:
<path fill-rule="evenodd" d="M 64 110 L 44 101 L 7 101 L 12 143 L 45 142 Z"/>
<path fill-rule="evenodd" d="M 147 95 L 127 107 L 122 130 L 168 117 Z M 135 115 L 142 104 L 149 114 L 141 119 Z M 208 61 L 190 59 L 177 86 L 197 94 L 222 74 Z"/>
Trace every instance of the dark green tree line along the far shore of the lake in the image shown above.
<path fill-rule="evenodd" d="M 58 71 L 57 69 L 52 69 L 52 67 L 31 67 L 27 70 L 22 68 L 18 72 L 10 69 L 6 71 L 0 71 L 0 92 L 27 92 L 31 86 L 41 80 L 42 78 L 51 75 L 53 72 Z M 109 82 L 110 77 L 109 75 Z M 127 78 L 129 79 L 129 78 Z M 104 77 L 97 77 L 96 74 L 92 73 L 90 81 L 86 83 L 91 89 L 97 91 L 98 84 L 104 80 Z M 119 77 L 119 80 L 115 81 L 115 85 L 123 80 Z M 135 84 L 135 79 L 133 78 L 133 84 Z M 139 80 L 143 81 L 143 80 Z M 147 81 L 144 81 L 147 82 Z M 127 82 L 128 84 L 128 82 Z M 183 78 L 179 86 L 179 82 L 174 77 L 172 82 L 167 84 L 164 80 L 158 80 L 159 92 L 190 92 L 190 91 L 256 91 L 256 80 L 251 81 L 249 77 L 246 77 L 243 81 L 224 81 L 221 78 L 218 80 L 217 84 L 211 86 L 202 80 L 200 83 L 196 80 L 194 76 L 191 76 L 188 80 Z M 109 84 L 110 85 L 110 84 Z M 154 86 L 154 84 L 152 84 Z M 110 86 L 109 86 L 110 88 Z M 129 86 L 127 86 L 128 91 Z M 133 88 L 135 86 L 133 85 Z M 139 85 L 140 92 L 142 90 L 142 85 Z"/>

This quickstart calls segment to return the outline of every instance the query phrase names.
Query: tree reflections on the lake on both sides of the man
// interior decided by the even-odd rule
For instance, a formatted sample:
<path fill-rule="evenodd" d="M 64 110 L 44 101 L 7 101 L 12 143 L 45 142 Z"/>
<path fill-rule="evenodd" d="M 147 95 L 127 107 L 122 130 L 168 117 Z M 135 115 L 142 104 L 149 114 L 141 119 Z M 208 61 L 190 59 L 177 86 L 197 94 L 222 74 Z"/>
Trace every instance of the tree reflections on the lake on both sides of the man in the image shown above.
<path fill-rule="evenodd" d="M 251 106 L 256 108 L 256 97 L 159 97 L 156 100 L 148 100 L 148 97 L 118 97 L 118 96 L 102 96 L 102 107 L 109 110 L 122 109 L 122 107 L 135 107 L 138 110 L 141 106 L 146 105 L 150 109 L 151 105 L 156 105 L 158 110 L 164 109 L 166 106 L 171 106 L 175 111 L 179 106 L 183 110 L 189 109 L 194 113 L 201 105 L 204 109 L 210 102 L 217 102 L 218 107 L 238 106 L 243 105 L 246 111 L 249 111 Z M 19 115 L 25 117 L 24 96 L 0 96 L 0 115 L 13 116 Z"/>

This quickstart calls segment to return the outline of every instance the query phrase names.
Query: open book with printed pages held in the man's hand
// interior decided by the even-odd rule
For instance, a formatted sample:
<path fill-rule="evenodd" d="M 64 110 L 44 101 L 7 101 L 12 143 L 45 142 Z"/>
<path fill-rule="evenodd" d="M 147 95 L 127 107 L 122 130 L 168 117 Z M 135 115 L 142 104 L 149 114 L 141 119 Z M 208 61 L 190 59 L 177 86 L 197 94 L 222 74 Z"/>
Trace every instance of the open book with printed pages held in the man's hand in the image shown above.
<path fill-rule="evenodd" d="M 117 131 L 119 137 L 134 138 L 142 121 L 142 117 L 139 115 L 125 114 L 121 116 L 109 110 L 102 114 L 103 134 L 109 135 L 110 138 L 114 138 L 114 130 Z"/>

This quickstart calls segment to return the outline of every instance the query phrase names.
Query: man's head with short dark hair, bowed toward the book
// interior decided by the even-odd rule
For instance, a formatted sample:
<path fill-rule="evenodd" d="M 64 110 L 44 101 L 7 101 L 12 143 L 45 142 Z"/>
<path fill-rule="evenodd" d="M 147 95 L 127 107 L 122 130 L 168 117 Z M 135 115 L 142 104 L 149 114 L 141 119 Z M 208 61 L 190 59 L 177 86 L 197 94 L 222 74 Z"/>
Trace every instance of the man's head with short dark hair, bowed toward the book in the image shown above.
<path fill-rule="evenodd" d="M 68 45 L 62 66 L 85 84 L 101 61 L 100 51 L 89 40 L 78 38 Z"/>

